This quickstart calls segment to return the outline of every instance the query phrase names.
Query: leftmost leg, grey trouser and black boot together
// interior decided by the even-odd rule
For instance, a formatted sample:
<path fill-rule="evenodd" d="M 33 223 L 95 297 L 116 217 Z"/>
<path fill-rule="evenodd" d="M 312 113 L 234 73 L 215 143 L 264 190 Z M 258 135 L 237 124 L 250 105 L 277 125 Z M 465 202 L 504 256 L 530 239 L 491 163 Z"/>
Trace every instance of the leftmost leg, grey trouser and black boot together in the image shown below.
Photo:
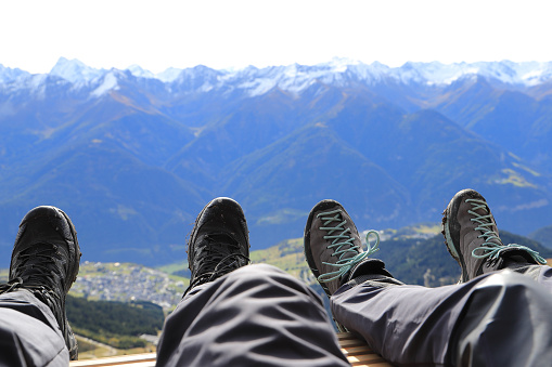
<path fill-rule="evenodd" d="M 0 365 L 66 366 L 77 358 L 65 298 L 79 260 L 75 227 L 62 210 L 38 207 L 25 215 L 10 279 L 0 285 Z"/>

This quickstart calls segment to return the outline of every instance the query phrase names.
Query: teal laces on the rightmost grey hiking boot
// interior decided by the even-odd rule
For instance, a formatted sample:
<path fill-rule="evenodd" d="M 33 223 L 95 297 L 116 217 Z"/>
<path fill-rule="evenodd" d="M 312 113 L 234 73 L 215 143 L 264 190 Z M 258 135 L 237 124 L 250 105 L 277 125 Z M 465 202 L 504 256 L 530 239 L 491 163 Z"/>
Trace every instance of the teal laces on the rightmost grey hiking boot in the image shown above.
<path fill-rule="evenodd" d="M 466 199 L 465 202 L 470 202 L 472 205 L 472 209 L 467 212 L 474 218 L 471 219 L 472 222 L 477 223 L 477 227 L 474 231 L 480 231 L 482 234 L 478 238 L 484 238 L 485 243 L 482 246 L 475 248 L 472 251 L 472 257 L 476 259 L 485 259 L 488 260 L 497 260 L 503 251 L 516 249 L 523 250 L 530 254 L 530 257 L 538 262 L 539 264 L 545 264 L 547 260 L 544 260 L 539 252 L 531 250 L 527 246 L 522 246 L 517 244 L 502 244 L 499 235 L 492 231 L 492 225 L 495 224 L 492 221 L 492 214 L 490 213 L 489 207 L 487 202 L 478 199 Z M 483 209 L 487 214 L 479 214 L 476 210 Z"/>

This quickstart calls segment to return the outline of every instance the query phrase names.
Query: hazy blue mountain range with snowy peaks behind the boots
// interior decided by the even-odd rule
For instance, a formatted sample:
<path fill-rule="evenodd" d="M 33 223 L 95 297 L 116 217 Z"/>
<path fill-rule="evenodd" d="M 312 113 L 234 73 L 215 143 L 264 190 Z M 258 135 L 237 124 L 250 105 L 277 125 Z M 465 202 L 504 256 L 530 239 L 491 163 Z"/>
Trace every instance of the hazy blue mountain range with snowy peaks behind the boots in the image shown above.
<path fill-rule="evenodd" d="M 69 214 L 84 259 L 146 265 L 184 258 L 216 196 L 242 204 L 254 249 L 299 237 L 324 198 L 401 227 L 472 187 L 501 228 L 552 223 L 552 63 L 0 65 L 0 134 L 2 266 L 37 205 Z"/>

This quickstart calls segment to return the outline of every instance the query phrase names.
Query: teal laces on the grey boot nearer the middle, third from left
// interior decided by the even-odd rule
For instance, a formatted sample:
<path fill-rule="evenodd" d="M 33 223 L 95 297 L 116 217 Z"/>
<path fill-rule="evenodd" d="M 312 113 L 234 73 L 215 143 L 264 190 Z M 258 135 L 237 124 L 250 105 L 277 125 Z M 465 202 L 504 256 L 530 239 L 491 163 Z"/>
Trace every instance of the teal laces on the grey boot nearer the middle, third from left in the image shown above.
<path fill-rule="evenodd" d="M 323 226 L 321 226 L 319 230 L 328 232 L 328 235 L 324 236 L 324 239 L 332 240 L 332 244 L 326 246 L 326 248 L 334 249 L 332 257 L 338 257 L 338 260 L 335 263 L 322 262 L 325 265 L 335 267 L 335 271 L 321 274 L 318 277 L 318 281 L 328 283 L 341 278 L 355 265 L 362 262 L 369 255 L 378 250 L 380 235 L 376 231 L 373 230 L 367 233 L 367 251 L 362 251 L 358 245 L 354 244 L 355 237 L 351 236 L 350 227 L 345 226 L 347 224 L 347 220 L 343 219 L 342 209 L 319 213 L 317 218 L 321 218 L 323 221 Z M 374 234 L 376 237 L 375 244 L 373 246 L 369 240 L 371 234 Z"/>

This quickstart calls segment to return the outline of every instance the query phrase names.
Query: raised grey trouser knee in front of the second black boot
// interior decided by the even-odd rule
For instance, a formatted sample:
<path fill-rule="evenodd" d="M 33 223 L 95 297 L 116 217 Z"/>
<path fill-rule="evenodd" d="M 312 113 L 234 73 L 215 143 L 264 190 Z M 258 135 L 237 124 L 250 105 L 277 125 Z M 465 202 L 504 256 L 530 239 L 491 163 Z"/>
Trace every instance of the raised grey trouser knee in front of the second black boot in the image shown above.
<path fill-rule="evenodd" d="M 165 322 L 159 366 L 348 366 L 322 301 L 269 265 L 195 287 Z"/>

